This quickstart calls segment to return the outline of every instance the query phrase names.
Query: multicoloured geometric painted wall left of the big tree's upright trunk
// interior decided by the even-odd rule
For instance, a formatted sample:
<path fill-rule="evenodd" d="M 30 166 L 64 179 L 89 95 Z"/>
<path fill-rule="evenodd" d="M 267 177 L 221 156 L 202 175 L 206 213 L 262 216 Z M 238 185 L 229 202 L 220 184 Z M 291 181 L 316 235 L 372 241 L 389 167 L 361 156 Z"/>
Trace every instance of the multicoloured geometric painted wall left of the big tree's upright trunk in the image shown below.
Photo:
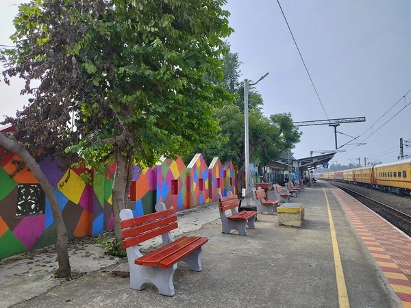
<path fill-rule="evenodd" d="M 27 191 L 40 191 L 36 188 L 38 181 L 32 172 L 25 167 L 14 177 L 10 177 L 16 170 L 15 163 L 20 160 L 10 153 L 1 160 L 0 258 L 55 244 L 57 241 L 49 201 L 44 194 L 30 196 Z M 40 163 L 40 168 L 55 187 L 69 240 L 112 229 L 114 224 L 111 206 L 107 206 L 111 202 L 112 180 L 105 176 L 94 176 L 97 185 L 86 185 L 79 179 L 79 175 L 86 170 L 73 168 L 63 172 L 58 168 L 59 164 L 58 160 L 53 162 L 45 159 Z M 24 184 L 29 184 L 29 188 Z M 44 208 L 40 211 L 37 209 L 36 214 L 32 215 L 19 213 L 29 206 L 28 198 L 38 198 L 39 203 L 42 203 L 40 198 L 44 198 Z"/>

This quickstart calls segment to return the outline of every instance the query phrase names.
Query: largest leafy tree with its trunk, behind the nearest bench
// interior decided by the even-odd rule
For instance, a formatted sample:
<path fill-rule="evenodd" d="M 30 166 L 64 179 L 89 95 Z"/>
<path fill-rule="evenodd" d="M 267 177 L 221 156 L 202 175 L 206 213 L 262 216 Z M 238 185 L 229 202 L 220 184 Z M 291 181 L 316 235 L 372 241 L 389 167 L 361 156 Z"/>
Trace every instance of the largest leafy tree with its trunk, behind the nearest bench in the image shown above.
<path fill-rule="evenodd" d="M 116 162 L 116 239 L 134 164 L 184 155 L 218 131 L 228 92 L 221 55 L 229 36 L 225 0 L 33 0 L 16 19 L 7 77 L 25 77 L 29 109 L 75 114 L 71 153 L 96 168 Z M 40 79 L 40 87 L 30 86 Z M 55 109 L 54 109 L 55 108 Z M 27 112 L 28 114 L 28 112 Z M 102 167 L 101 167 L 102 168 Z M 100 168 L 100 170 L 101 170 Z"/>

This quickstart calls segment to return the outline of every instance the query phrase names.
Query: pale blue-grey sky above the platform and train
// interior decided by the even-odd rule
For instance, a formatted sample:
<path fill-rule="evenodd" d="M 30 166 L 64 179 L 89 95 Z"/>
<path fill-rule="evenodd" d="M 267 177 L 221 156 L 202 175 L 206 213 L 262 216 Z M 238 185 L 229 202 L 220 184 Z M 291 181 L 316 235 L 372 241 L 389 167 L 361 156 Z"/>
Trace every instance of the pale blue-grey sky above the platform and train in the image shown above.
<path fill-rule="evenodd" d="M 19 2 L 0 1 L 0 44 L 11 44 Z M 411 157 L 410 0 L 228 0 L 224 8 L 234 29 L 227 41 L 242 62 L 240 79 L 269 73 L 255 86 L 265 116 L 290 113 L 295 122 L 365 117 L 337 127 L 341 152 L 330 164 L 396 161 L 400 138 Z M 0 119 L 27 104 L 21 88 L 15 78 L 12 86 L 0 82 Z M 336 149 L 334 127 L 298 128 L 303 135 L 292 149 L 295 158 Z"/>

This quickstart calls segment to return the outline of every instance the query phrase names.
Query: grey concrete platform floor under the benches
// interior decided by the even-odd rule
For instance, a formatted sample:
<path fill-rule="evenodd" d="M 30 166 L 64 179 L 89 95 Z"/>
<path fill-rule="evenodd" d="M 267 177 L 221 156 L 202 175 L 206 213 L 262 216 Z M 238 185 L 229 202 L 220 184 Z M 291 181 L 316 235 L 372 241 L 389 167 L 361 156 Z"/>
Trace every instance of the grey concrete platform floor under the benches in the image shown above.
<path fill-rule="evenodd" d="M 335 248 L 325 195 L 334 219 L 349 305 L 401 307 L 338 200 L 321 185 L 306 188 L 291 200 L 305 205 L 301 228 L 279 227 L 276 214 L 264 213 L 258 215 L 256 229 L 247 229 L 247 236 L 235 231 L 222 234 L 216 203 L 180 214 L 180 234 L 175 236 L 201 235 L 209 242 L 201 255 L 202 272 L 190 272 L 179 262 L 173 297 L 158 294 L 152 285 L 142 291 L 129 289 L 129 277 L 115 274 L 127 264 L 114 259 L 116 264 L 64 283 L 49 277 L 36 283 L 28 277 L 16 283 L 1 282 L 0 307 L 338 307 Z M 273 191 L 269 198 L 275 198 Z M 97 262 L 89 260 L 93 265 Z M 1 273 L 5 267 L 8 264 L 1 261 Z M 30 287 L 37 294 L 27 292 Z"/>

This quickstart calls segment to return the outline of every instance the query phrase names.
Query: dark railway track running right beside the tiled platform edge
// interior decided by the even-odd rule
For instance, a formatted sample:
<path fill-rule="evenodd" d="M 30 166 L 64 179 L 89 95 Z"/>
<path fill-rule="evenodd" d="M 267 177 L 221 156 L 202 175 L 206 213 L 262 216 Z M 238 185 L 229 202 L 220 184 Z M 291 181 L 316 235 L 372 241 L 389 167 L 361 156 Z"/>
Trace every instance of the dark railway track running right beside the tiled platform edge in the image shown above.
<path fill-rule="evenodd" d="M 403 231 L 403 233 L 411 236 L 411 216 L 409 214 L 370 198 L 369 196 L 361 194 L 360 192 L 351 190 L 343 185 L 338 185 L 338 183 L 332 182 L 332 185 L 340 188 L 340 190 L 343 190 L 344 192 L 347 192 L 347 194 L 353 196 L 353 198 L 356 198 L 360 201 L 360 203 L 364 204 L 366 207 L 369 207 L 372 211 L 375 211 L 376 214 Z"/>

